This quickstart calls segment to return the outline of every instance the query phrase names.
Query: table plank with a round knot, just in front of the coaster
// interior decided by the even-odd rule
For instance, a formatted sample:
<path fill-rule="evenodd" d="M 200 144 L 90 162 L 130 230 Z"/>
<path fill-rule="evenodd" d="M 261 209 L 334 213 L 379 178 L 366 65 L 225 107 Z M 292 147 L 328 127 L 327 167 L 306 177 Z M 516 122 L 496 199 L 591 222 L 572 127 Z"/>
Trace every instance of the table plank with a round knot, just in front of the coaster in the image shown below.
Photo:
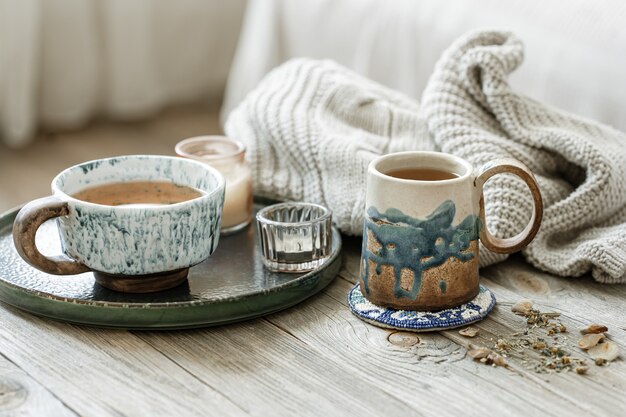
<path fill-rule="evenodd" d="M 471 361 L 465 348 L 439 333 L 395 332 L 359 320 L 346 305 L 351 288 L 340 279 L 315 302 L 269 320 L 335 360 L 351 363 L 360 379 L 376 381 L 379 389 L 427 415 L 440 412 L 443 404 L 449 413 L 469 416 L 493 410 L 526 416 L 583 412 L 514 372 Z"/>

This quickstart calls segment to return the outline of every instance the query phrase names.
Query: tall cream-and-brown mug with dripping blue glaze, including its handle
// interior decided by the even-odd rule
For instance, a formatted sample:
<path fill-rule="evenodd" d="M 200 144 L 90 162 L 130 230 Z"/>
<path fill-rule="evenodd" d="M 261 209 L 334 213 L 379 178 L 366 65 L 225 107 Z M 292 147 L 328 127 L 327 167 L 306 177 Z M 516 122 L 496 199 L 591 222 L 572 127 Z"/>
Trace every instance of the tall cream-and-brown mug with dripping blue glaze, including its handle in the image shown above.
<path fill-rule="evenodd" d="M 500 173 L 519 176 L 534 200 L 530 222 L 508 239 L 485 226 L 483 184 Z M 495 160 L 474 172 L 469 162 L 439 152 L 381 156 L 367 174 L 361 290 L 374 304 L 396 309 L 463 304 L 479 290 L 478 239 L 493 252 L 518 251 L 535 237 L 542 215 L 537 182 L 517 160 Z"/>

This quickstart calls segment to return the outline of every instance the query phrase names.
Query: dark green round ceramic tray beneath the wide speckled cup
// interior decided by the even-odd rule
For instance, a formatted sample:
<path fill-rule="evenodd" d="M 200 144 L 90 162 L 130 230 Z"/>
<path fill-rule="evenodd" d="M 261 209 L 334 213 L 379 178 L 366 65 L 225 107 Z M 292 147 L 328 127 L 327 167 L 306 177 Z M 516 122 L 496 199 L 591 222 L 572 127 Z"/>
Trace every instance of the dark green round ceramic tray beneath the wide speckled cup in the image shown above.
<path fill-rule="evenodd" d="M 72 323 L 126 329 L 232 323 L 303 301 L 328 285 L 341 267 L 341 235 L 333 228 L 333 252 L 320 268 L 305 274 L 270 272 L 263 266 L 252 224 L 221 237 L 213 256 L 189 270 L 187 283 L 152 294 L 119 293 L 96 284 L 91 273 L 56 276 L 26 264 L 11 235 L 17 211 L 0 215 L 0 300 Z M 42 225 L 37 246 L 46 255 L 61 252 L 54 221 Z"/>

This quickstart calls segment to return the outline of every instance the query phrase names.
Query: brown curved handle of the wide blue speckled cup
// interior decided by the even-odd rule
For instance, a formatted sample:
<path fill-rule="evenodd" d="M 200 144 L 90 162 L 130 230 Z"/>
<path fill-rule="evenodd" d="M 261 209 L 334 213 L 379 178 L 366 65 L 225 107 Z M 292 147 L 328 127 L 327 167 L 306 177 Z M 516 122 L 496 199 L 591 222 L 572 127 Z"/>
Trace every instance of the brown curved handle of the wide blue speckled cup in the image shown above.
<path fill-rule="evenodd" d="M 88 272 L 90 269 L 80 262 L 64 256 L 45 256 L 35 243 L 37 229 L 46 220 L 67 216 L 67 202 L 54 197 L 44 197 L 26 204 L 17 213 L 13 223 L 13 243 L 22 258 L 35 268 L 54 275 L 74 275 Z"/>

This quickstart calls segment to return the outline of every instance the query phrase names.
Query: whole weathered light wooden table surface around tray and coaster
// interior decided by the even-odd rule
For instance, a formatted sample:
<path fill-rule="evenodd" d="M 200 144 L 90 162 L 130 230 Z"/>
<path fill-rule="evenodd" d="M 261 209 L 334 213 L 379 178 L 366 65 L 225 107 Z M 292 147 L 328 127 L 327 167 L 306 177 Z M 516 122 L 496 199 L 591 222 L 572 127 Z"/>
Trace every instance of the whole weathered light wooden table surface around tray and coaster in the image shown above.
<path fill-rule="evenodd" d="M 557 278 L 520 257 L 484 269 L 498 304 L 458 330 L 408 333 L 362 322 L 346 305 L 360 240 L 345 238 L 344 265 L 322 293 L 265 318 L 186 331 L 81 327 L 0 308 L 0 415 L 15 416 L 619 416 L 626 366 L 590 361 L 587 375 L 540 374 L 467 356 L 526 328 L 521 298 L 562 314 L 574 356 L 578 329 L 609 327 L 626 354 L 626 286 Z M 541 330 L 541 329 L 540 329 Z"/>

